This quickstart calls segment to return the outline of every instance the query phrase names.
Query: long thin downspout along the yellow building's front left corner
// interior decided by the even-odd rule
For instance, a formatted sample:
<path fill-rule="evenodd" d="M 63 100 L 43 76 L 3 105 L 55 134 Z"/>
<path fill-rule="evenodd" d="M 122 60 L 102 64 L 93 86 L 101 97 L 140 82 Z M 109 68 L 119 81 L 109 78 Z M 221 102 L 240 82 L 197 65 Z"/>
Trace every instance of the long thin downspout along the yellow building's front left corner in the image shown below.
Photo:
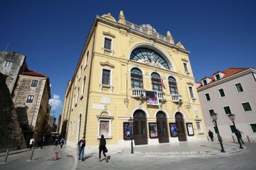
<path fill-rule="evenodd" d="M 92 46 L 92 54 L 91 54 L 92 59 L 90 59 L 90 72 L 89 72 L 89 82 L 88 82 L 88 90 L 87 90 L 87 97 L 86 97 L 86 109 L 85 109 L 84 136 L 86 134 L 86 122 L 87 122 L 89 92 L 90 92 L 90 77 L 92 76 L 92 63 L 93 63 L 95 35 L 96 35 L 96 24 L 94 25 L 93 46 Z"/>

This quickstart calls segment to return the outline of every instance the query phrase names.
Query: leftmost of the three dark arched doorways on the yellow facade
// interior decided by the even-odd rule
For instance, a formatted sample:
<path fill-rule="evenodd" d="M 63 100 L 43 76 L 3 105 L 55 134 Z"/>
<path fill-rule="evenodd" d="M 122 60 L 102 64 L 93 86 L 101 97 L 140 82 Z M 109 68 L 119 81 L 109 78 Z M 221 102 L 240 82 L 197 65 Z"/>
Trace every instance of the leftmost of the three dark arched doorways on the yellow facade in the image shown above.
<path fill-rule="evenodd" d="M 137 110 L 133 114 L 134 144 L 147 145 L 147 121 L 146 114 Z"/>

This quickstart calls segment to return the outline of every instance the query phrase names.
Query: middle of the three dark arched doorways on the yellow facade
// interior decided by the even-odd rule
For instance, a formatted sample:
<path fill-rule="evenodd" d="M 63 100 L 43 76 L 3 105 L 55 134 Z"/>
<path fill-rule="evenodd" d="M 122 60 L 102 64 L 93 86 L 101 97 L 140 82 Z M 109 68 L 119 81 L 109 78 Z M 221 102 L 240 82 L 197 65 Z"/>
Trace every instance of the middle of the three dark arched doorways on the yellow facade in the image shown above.
<path fill-rule="evenodd" d="M 168 143 L 169 136 L 167 130 L 166 114 L 163 112 L 156 113 L 156 124 L 158 127 L 158 141 L 159 143 Z"/>

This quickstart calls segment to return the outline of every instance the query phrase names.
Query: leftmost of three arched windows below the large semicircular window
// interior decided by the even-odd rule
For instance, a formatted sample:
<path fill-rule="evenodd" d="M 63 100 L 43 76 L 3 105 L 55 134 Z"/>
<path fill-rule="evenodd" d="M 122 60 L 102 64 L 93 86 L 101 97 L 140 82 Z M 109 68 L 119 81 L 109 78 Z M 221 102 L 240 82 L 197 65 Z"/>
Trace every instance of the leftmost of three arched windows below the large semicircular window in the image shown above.
<path fill-rule="evenodd" d="M 131 88 L 143 88 L 142 71 L 137 68 L 131 69 Z"/>

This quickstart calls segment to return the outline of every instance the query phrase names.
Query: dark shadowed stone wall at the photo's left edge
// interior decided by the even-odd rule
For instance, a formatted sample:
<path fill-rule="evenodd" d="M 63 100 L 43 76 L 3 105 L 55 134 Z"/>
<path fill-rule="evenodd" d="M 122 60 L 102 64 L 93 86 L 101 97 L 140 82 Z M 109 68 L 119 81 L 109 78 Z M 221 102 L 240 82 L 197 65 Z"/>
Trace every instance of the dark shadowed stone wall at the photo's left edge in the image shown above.
<path fill-rule="evenodd" d="M 0 73 L 0 152 L 27 147 L 5 80 L 6 76 Z"/>

